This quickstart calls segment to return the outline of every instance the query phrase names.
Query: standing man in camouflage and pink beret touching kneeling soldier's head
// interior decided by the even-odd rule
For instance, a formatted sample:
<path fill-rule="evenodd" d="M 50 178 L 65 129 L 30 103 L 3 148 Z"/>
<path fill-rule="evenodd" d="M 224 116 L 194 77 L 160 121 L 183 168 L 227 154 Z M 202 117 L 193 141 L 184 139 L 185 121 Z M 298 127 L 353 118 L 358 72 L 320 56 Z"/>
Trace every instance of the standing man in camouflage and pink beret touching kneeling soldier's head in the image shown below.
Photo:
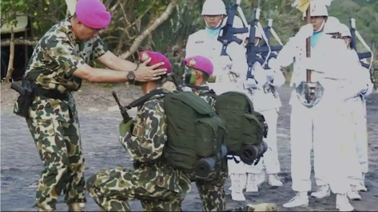
<path fill-rule="evenodd" d="M 41 38 L 25 72 L 36 97 L 25 115 L 30 133 L 45 167 L 39 180 L 36 206 L 52 211 L 60 193 L 70 211 L 80 211 L 84 195 L 84 157 L 79 120 L 71 95 L 82 79 L 96 83 L 156 80 L 165 69 L 139 67 L 108 51 L 99 31 L 110 23 L 110 13 L 99 0 L 79 0 L 76 14 L 54 25 Z M 97 59 L 110 69 L 91 68 Z M 153 71 L 155 69 L 155 71 Z M 15 103 L 14 112 L 19 112 Z"/>

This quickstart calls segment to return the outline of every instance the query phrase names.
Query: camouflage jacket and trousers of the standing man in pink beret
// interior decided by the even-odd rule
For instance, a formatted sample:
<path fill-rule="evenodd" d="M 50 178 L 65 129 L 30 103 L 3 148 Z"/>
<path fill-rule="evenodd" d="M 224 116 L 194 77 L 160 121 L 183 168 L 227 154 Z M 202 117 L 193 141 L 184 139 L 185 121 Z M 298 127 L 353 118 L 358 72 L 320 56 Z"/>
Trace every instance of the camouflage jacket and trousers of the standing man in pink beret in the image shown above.
<path fill-rule="evenodd" d="M 80 88 L 81 79 L 73 72 L 107 50 L 99 37 L 78 43 L 66 19 L 43 35 L 30 58 L 25 79 L 60 94 L 59 98 L 37 94 L 26 118 L 45 167 L 36 194 L 40 209 L 55 210 L 62 190 L 67 204 L 86 202 L 80 126 L 71 95 Z M 17 102 L 14 110 L 18 110 Z"/>

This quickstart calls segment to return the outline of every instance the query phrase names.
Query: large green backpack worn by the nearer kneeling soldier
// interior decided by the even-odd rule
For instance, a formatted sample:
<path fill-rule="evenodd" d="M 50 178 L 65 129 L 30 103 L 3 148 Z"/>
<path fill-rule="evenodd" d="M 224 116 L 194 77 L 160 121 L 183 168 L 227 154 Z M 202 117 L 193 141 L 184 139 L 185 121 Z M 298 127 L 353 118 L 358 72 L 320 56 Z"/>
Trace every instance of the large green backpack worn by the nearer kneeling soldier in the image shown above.
<path fill-rule="evenodd" d="M 152 97 L 156 94 L 164 95 Z M 201 97 L 189 91 L 155 90 L 142 98 L 164 98 L 168 141 L 163 160 L 167 165 L 203 177 L 226 156 L 225 123 Z"/>

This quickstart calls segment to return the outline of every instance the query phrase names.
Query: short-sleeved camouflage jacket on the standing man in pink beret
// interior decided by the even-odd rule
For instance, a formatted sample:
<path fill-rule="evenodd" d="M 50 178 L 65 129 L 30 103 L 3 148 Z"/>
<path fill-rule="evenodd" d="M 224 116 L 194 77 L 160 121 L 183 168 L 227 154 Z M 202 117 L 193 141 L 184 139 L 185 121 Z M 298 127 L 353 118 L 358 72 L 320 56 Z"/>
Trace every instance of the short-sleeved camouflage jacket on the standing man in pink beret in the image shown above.
<path fill-rule="evenodd" d="M 73 76 L 73 72 L 107 51 L 108 48 L 100 37 L 89 41 L 76 40 L 70 19 L 52 26 L 34 48 L 25 78 L 45 89 L 68 93 L 69 98 L 62 101 L 36 97 L 30 107 L 29 117 L 68 121 L 70 115 L 76 114 L 70 91 L 76 91 L 81 86 L 81 79 Z M 17 103 L 14 109 L 18 109 Z"/>

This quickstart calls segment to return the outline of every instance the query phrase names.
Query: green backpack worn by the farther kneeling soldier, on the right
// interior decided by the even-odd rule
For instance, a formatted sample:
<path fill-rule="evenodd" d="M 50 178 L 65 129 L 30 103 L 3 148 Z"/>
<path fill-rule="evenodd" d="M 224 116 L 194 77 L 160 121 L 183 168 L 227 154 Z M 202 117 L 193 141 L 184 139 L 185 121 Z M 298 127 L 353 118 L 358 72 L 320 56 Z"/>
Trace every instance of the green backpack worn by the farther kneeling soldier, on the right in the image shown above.
<path fill-rule="evenodd" d="M 267 126 L 265 118 L 254 111 L 253 103 L 242 92 L 225 92 L 215 95 L 214 91 L 202 95 L 211 95 L 217 100 L 215 111 L 226 122 L 228 155 L 239 156 L 244 163 L 252 164 L 267 150 L 263 141 Z"/>

